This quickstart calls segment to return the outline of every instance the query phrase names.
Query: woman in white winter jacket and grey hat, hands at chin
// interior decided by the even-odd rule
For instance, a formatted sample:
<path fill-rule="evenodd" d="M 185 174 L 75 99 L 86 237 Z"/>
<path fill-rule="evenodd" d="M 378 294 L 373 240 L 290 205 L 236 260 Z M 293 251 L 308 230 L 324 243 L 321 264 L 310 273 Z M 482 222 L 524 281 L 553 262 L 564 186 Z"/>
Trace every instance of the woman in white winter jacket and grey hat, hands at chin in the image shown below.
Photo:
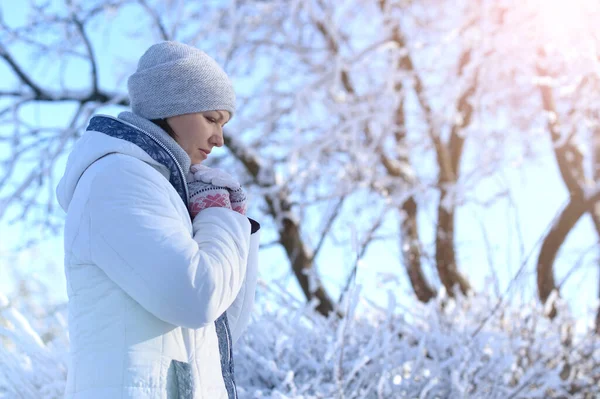
<path fill-rule="evenodd" d="M 65 398 L 236 398 L 232 346 L 254 302 L 260 226 L 239 183 L 199 165 L 223 145 L 233 87 L 204 52 L 162 42 L 128 90 L 132 112 L 91 119 L 57 188 Z"/>

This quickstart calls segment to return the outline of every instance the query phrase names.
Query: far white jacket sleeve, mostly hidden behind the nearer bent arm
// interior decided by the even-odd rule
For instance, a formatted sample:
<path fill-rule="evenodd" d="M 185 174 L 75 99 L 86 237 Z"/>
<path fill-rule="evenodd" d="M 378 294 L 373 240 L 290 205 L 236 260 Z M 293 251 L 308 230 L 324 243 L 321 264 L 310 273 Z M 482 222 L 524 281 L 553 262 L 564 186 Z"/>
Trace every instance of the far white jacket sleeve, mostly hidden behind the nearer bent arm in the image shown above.
<path fill-rule="evenodd" d="M 250 248 L 248 253 L 248 264 L 246 277 L 237 297 L 227 309 L 227 321 L 231 330 L 231 339 L 235 344 L 250 322 L 252 307 L 254 306 L 254 294 L 256 292 L 256 280 L 258 278 L 258 246 L 260 242 L 260 224 L 250 219 L 252 224 L 252 235 L 250 236 Z"/>

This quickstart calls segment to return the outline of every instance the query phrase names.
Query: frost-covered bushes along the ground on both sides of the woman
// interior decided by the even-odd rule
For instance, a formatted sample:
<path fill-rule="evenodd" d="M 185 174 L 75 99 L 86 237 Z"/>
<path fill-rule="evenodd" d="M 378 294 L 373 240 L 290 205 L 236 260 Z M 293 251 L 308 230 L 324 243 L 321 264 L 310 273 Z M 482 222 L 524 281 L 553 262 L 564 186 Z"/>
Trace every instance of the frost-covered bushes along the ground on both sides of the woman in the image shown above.
<path fill-rule="evenodd" d="M 574 333 L 560 302 L 564 308 L 550 321 L 539 305 L 496 307 L 483 295 L 449 299 L 442 292 L 406 307 L 390 291 L 383 309 L 354 290 L 340 320 L 273 288 L 262 298 L 268 304 L 257 303 L 234 348 L 241 399 L 600 395 L 597 338 Z M 67 346 L 57 343 L 66 336 L 44 342 L 43 331 L 31 327 L 41 316 L 7 300 L 2 306 L 0 397 L 61 398 Z"/>

